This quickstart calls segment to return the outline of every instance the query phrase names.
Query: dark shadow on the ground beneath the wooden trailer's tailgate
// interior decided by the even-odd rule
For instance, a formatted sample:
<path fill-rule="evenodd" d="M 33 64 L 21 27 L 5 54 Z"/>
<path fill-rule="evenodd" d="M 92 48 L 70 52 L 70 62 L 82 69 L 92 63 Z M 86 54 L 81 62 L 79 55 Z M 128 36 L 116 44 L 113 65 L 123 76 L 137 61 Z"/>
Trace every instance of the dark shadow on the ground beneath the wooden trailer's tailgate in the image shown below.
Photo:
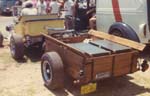
<path fill-rule="evenodd" d="M 142 93 L 150 93 L 149 88 L 130 82 L 129 76 L 109 78 L 97 82 L 97 91 L 81 95 L 80 87 L 66 83 L 64 89 L 50 90 L 55 96 L 137 96 Z"/>

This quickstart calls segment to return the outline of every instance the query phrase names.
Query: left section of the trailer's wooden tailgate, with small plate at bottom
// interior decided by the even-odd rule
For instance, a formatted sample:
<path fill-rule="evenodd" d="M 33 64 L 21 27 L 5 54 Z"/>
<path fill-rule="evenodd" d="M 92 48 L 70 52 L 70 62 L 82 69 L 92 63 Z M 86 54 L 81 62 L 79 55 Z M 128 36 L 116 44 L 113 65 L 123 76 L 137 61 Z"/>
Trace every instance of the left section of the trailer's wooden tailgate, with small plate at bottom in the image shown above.
<path fill-rule="evenodd" d="M 111 76 L 113 56 L 94 59 L 93 79 L 103 79 Z"/>

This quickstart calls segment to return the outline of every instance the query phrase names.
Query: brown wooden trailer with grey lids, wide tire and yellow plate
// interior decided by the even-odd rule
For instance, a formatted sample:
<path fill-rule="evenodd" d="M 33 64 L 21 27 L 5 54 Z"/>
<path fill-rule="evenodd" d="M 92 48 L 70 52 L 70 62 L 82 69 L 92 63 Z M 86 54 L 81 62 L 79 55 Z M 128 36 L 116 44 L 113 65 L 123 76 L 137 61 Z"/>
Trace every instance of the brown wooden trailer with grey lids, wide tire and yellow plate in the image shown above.
<path fill-rule="evenodd" d="M 63 87 L 67 75 L 74 84 L 81 85 L 81 94 L 95 91 L 95 81 L 138 71 L 138 50 L 145 47 L 94 30 L 75 36 L 73 32 L 43 35 L 46 52 L 42 56 L 41 72 L 45 85 L 49 89 Z M 122 45 L 125 42 L 128 43 Z"/>

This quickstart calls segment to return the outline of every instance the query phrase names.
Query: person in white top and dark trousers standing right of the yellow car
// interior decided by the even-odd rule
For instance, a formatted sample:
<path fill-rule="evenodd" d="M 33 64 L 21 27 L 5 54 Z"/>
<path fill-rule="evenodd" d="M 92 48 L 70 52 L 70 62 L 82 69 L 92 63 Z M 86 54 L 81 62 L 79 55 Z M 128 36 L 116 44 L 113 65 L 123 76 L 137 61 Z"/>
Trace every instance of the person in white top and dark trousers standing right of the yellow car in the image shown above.
<path fill-rule="evenodd" d="M 72 0 L 64 0 L 64 15 L 66 29 L 73 29 L 74 2 Z"/>

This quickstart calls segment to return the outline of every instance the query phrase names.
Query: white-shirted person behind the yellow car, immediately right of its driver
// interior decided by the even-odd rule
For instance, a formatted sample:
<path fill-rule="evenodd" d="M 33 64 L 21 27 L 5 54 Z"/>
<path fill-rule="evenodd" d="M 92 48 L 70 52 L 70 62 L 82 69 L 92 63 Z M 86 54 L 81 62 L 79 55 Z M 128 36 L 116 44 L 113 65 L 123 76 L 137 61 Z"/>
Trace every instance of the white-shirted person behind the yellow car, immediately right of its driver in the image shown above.
<path fill-rule="evenodd" d="M 44 0 L 40 0 L 37 3 L 38 15 L 46 14 L 46 2 Z"/>

